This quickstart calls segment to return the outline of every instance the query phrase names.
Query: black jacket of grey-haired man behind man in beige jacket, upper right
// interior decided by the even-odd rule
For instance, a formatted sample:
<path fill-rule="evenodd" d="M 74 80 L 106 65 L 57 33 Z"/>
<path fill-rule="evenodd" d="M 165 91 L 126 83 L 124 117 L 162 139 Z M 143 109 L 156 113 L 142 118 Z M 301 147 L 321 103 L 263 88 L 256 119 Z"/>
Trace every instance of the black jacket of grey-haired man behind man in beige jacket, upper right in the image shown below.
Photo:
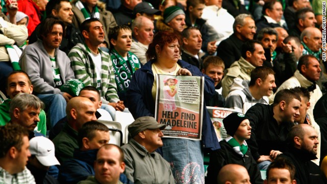
<path fill-rule="evenodd" d="M 235 34 L 230 35 L 227 39 L 220 42 L 217 48 L 217 56 L 219 56 L 225 64 L 225 70 L 229 66 L 241 58 L 242 44 L 244 42 L 236 37 Z"/>

